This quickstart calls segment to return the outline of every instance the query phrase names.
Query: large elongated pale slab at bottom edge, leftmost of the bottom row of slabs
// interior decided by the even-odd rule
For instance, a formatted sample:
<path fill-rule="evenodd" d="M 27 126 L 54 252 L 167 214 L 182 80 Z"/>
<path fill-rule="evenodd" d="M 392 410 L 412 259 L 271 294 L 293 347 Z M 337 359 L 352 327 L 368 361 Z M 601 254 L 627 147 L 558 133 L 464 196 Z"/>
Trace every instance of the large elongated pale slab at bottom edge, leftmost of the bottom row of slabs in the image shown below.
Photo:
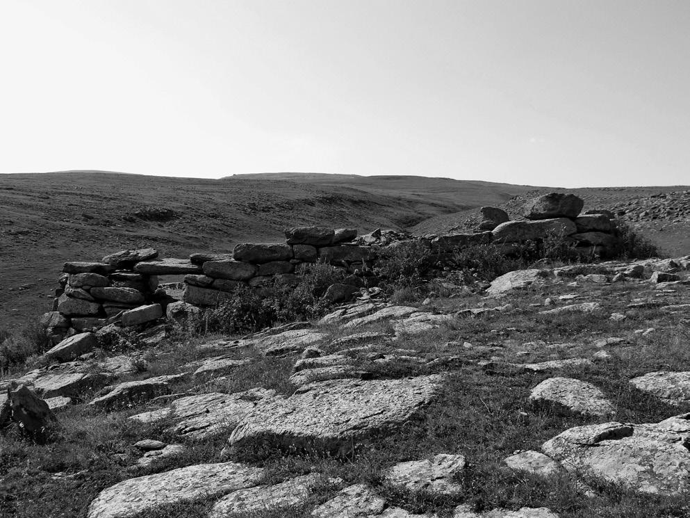
<path fill-rule="evenodd" d="M 104 489 L 92 501 L 88 518 L 129 518 L 163 505 L 222 496 L 252 487 L 263 469 L 221 462 L 198 464 L 155 475 L 131 478 Z"/>

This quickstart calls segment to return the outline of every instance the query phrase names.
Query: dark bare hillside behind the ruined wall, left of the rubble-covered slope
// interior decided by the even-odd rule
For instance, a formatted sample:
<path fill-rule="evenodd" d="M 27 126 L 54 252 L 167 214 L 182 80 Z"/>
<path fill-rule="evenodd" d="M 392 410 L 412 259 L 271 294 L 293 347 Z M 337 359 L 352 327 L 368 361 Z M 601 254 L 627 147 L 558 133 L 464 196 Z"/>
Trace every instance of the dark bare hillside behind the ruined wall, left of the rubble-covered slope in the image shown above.
<path fill-rule="evenodd" d="M 222 180 L 71 171 L 0 175 L 0 327 L 49 309 L 67 260 L 123 248 L 229 252 L 290 225 L 400 228 L 530 188 L 420 177 L 240 175 Z"/>

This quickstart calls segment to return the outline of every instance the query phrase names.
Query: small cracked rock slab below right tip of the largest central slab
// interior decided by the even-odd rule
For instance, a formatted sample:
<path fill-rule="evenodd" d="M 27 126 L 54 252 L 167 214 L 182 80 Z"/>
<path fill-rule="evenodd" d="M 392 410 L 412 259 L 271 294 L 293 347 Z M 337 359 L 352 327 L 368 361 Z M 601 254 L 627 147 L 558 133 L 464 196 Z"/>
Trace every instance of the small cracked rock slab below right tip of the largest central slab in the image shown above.
<path fill-rule="evenodd" d="M 462 455 L 440 453 L 431 460 L 412 460 L 395 464 L 386 473 L 386 482 L 410 491 L 461 494 L 463 487 L 453 479 L 467 467 Z"/>

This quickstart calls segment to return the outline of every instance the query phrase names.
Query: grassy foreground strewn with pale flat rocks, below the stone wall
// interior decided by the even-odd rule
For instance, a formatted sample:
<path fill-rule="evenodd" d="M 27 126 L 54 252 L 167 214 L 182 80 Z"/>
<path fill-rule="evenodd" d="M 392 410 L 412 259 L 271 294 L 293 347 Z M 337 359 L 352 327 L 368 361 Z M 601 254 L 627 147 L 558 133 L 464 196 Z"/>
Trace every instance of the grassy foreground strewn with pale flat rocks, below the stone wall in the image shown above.
<path fill-rule="evenodd" d="M 423 303 L 365 297 L 241 339 L 72 344 L 2 382 L 0 451 L 128 430 L 105 460 L 30 470 L 86 495 L 88 518 L 603 516 L 611 495 L 607 516 L 690 515 L 689 269 L 518 270 L 483 296 L 446 280 Z"/>

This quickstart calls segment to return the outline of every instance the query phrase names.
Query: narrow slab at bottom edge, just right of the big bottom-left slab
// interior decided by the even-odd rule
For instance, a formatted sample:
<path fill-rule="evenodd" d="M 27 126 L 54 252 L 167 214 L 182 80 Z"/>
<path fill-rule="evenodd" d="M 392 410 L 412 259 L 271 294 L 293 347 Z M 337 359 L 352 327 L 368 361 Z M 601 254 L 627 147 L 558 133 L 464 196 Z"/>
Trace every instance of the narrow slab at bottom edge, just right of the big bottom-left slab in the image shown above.
<path fill-rule="evenodd" d="M 290 478 L 275 485 L 259 485 L 232 492 L 213 505 L 208 518 L 226 518 L 236 512 L 261 512 L 299 505 L 327 479 L 320 474 Z"/>

